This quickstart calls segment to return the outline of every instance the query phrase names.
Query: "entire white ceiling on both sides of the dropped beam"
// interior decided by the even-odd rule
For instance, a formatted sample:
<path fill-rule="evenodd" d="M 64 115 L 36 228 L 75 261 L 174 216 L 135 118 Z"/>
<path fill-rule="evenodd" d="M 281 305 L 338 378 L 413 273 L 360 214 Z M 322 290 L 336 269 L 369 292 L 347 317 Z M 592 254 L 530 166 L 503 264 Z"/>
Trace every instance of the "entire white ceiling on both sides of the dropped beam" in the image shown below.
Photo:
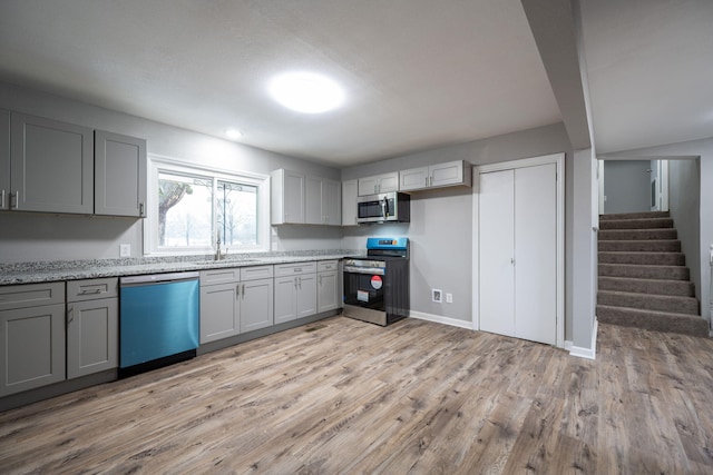
<path fill-rule="evenodd" d="M 711 137 L 713 1 L 580 3 L 597 151 Z M 336 167 L 563 120 L 520 0 L 1 0 L 0 80 Z"/>

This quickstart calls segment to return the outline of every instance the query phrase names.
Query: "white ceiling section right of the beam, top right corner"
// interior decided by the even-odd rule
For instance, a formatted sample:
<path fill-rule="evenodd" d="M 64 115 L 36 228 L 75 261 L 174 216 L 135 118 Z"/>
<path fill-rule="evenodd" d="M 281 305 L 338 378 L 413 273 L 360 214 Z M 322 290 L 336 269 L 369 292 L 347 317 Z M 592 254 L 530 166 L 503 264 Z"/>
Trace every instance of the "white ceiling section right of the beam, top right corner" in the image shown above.
<path fill-rule="evenodd" d="M 713 137 L 713 0 L 582 10 L 597 154 Z"/>

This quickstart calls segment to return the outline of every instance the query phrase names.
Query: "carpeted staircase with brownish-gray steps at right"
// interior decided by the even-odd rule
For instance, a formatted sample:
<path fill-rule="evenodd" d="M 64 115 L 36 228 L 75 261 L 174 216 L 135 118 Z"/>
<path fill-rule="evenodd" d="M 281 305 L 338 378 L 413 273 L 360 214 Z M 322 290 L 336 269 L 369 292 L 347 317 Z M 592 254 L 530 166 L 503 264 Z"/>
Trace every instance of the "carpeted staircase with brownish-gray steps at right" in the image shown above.
<path fill-rule="evenodd" d="M 598 248 L 599 321 L 709 336 L 668 212 L 602 215 Z"/>

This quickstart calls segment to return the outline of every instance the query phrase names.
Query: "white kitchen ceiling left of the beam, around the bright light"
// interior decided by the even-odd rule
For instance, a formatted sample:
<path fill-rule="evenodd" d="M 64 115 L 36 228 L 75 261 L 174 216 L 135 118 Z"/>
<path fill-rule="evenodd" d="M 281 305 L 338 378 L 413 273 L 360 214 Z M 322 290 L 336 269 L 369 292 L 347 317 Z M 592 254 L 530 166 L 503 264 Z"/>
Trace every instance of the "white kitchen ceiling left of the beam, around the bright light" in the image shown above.
<path fill-rule="evenodd" d="M 274 103 L 285 70 L 345 106 Z M 0 79 L 339 167 L 560 121 L 519 0 L 2 0 Z"/>

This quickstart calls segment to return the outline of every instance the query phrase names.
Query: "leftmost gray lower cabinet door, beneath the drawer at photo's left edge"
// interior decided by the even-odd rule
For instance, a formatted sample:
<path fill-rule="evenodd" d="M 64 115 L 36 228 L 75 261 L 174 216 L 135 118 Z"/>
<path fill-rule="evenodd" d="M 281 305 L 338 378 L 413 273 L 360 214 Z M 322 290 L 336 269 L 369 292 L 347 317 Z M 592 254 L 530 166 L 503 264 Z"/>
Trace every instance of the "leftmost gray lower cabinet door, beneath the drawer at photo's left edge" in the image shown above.
<path fill-rule="evenodd" d="M 0 396 L 65 379 L 65 305 L 0 311 Z"/>

